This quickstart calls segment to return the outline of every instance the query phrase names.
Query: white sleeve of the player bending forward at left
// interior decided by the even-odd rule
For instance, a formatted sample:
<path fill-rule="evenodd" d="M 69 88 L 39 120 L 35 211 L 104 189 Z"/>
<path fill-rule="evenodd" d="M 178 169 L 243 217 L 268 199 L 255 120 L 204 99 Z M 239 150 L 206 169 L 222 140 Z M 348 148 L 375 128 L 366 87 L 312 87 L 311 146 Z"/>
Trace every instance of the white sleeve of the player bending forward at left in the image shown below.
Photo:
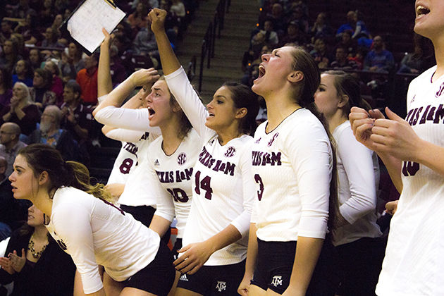
<path fill-rule="evenodd" d="M 54 231 L 63 240 L 82 277 L 85 294 L 103 288 L 94 255 L 91 214 L 82 204 L 59 204 L 52 215 Z M 73 223 L 75 221 L 75 223 Z"/>

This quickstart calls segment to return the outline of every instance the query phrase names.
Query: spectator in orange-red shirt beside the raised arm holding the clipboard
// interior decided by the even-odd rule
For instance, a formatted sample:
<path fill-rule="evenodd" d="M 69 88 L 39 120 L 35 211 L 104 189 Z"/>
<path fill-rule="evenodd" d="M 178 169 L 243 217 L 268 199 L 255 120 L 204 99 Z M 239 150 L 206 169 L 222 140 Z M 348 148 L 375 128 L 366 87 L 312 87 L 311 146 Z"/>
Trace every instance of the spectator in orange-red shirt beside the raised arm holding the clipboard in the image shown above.
<path fill-rule="evenodd" d="M 97 54 L 92 54 L 85 58 L 85 68 L 77 73 L 75 81 L 80 85 L 82 89 L 82 100 L 86 104 L 97 104 Z"/>

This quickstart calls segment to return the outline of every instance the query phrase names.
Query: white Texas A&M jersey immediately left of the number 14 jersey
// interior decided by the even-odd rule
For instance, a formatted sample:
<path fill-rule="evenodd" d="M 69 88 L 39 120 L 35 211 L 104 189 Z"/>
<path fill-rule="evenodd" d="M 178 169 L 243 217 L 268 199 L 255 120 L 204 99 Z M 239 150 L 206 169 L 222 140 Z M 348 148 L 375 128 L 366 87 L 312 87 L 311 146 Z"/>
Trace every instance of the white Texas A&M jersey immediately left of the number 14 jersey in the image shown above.
<path fill-rule="evenodd" d="M 160 199 L 155 215 L 169 221 L 175 216 L 178 238 L 183 238 L 191 208 L 192 171 L 201 149 L 200 137 L 191 129 L 171 155 L 166 155 L 162 149 L 163 140 L 163 137 L 154 140 L 148 155 L 147 175 L 153 178 L 153 190 Z"/>

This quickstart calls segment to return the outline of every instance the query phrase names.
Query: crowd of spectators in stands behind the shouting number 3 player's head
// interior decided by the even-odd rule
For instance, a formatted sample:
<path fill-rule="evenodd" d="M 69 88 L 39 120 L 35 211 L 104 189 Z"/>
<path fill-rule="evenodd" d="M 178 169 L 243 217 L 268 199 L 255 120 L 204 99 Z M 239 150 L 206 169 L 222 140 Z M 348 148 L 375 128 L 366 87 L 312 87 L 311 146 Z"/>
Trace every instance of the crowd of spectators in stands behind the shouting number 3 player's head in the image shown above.
<path fill-rule="evenodd" d="M 433 64 L 421 47 L 422 37 L 415 37 L 414 52 L 393 53 L 388 50 L 381 32 L 371 32 L 359 11 L 343 16 L 343 25 L 332 27 L 327 12 L 320 12 L 313 22 L 309 18 L 309 1 L 262 1 L 257 27 L 251 32 L 249 48 L 242 58 L 245 75 L 242 82 L 252 85 L 258 75 L 261 54 L 291 44 L 303 47 L 321 70 L 351 71 L 361 80 L 362 92 L 385 96 L 388 75 L 418 75 Z M 424 43 L 424 42 L 423 42 Z"/>

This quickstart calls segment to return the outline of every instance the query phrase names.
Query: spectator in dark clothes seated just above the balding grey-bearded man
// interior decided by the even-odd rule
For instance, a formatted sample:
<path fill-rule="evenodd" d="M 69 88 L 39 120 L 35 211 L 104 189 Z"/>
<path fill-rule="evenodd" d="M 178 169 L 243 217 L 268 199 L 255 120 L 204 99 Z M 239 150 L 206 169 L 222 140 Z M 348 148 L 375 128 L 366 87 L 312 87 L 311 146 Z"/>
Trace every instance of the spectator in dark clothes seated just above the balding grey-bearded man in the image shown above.
<path fill-rule="evenodd" d="M 51 91 L 51 82 L 52 75 L 48 70 L 38 68 L 34 71 L 30 96 L 41 111 L 47 105 L 56 104 L 56 93 Z"/>

